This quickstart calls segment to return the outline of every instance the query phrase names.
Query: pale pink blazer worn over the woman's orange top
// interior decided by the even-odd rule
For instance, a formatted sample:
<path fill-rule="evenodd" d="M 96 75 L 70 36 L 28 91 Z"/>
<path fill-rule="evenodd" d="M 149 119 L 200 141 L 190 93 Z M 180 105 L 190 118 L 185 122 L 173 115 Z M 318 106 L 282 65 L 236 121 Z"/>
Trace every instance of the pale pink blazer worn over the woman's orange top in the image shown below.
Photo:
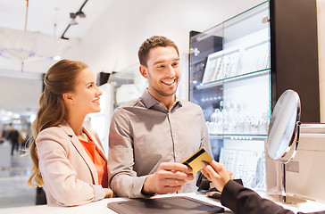
<path fill-rule="evenodd" d="M 107 162 L 96 133 L 83 130 Z M 36 145 L 48 205 L 75 206 L 104 198 L 95 164 L 65 120 L 57 127 L 42 130 Z"/>

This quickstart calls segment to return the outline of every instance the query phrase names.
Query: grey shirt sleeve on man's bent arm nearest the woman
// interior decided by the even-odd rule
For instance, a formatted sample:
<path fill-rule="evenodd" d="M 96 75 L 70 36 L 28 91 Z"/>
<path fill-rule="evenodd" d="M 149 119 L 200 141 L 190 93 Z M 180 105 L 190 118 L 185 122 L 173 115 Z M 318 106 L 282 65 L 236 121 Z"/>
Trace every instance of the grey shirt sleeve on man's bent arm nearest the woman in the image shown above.
<path fill-rule="evenodd" d="M 129 117 L 123 109 L 117 108 L 112 115 L 108 152 L 109 182 L 116 196 L 147 197 L 141 193 L 147 176 L 137 177 L 133 166 L 133 138 Z"/>

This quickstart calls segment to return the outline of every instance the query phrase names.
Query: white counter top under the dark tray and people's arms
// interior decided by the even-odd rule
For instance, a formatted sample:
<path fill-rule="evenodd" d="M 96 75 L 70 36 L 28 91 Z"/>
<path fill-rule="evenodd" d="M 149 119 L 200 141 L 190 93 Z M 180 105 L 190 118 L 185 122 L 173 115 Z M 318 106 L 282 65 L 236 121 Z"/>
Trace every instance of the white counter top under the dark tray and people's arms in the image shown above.
<path fill-rule="evenodd" d="M 263 193 L 260 193 L 261 195 Z M 221 202 L 217 199 L 212 199 L 207 197 L 204 193 L 174 193 L 174 194 L 164 194 L 164 195 L 156 195 L 153 198 L 161 198 L 161 197 L 171 197 L 171 196 L 187 196 L 190 198 L 194 198 L 199 201 L 208 202 L 213 205 L 221 206 Z M 122 202 L 128 201 L 128 198 L 111 198 L 104 199 L 98 202 L 91 202 L 86 205 L 76 206 L 76 207 L 51 207 L 47 205 L 37 205 L 37 206 L 26 206 L 26 207 L 15 207 L 15 208 L 4 208 L 0 209 L 0 213 L 5 214 L 88 214 L 88 213 L 116 213 L 113 210 L 107 208 L 108 202 Z M 319 211 L 325 210 L 325 204 L 319 202 L 307 201 L 297 205 L 291 204 L 282 204 L 278 203 L 284 208 L 288 210 L 293 210 L 294 212 L 303 211 L 303 212 L 311 212 L 311 211 Z M 229 210 L 224 207 L 225 210 Z"/>

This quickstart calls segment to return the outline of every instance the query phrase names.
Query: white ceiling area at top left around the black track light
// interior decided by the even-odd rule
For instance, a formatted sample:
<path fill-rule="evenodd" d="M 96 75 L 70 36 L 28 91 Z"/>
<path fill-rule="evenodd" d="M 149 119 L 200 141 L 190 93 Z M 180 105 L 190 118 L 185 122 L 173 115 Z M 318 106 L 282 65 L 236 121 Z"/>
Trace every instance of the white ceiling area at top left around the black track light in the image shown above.
<path fill-rule="evenodd" d="M 85 0 L 29 0 L 27 30 L 61 37 L 71 21 L 70 13 L 78 12 L 84 3 Z M 86 18 L 77 17 L 79 24 L 71 26 L 65 37 L 82 37 L 111 3 L 112 0 L 87 1 L 82 9 Z M 0 0 L 0 26 L 23 30 L 26 8 L 26 0 Z"/>

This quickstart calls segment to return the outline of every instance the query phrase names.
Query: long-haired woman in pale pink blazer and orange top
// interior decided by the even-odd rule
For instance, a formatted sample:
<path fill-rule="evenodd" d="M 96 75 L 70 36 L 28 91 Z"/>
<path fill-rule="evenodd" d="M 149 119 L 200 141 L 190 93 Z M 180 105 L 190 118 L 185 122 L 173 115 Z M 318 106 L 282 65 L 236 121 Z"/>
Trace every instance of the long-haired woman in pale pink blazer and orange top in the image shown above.
<path fill-rule="evenodd" d="M 44 92 L 30 144 L 34 163 L 29 185 L 45 187 L 49 205 L 74 206 L 112 197 L 107 160 L 96 133 L 83 126 L 100 111 L 102 92 L 83 62 L 55 63 L 44 78 Z"/>

